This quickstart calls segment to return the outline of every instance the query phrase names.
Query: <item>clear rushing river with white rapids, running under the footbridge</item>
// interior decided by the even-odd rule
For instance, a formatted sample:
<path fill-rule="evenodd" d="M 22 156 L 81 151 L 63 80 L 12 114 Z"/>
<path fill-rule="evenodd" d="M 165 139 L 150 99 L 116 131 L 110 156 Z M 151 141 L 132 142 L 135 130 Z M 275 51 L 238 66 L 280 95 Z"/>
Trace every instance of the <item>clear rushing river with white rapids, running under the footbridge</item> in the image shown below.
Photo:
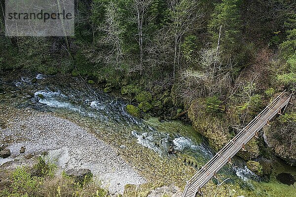
<path fill-rule="evenodd" d="M 32 78 L 37 83 L 31 83 Z M 126 112 L 124 100 L 69 75 L 8 73 L 0 77 L 0 104 L 50 111 L 87 128 L 117 147 L 148 180 L 184 187 L 185 180 L 215 154 L 189 125 L 135 118 Z M 278 182 L 261 182 L 240 159 L 234 159 L 233 166 L 224 166 L 219 181 L 214 181 L 219 184 L 223 180 L 223 184 L 236 184 L 248 196 L 274 196 L 277 189 L 270 192 L 268 188 L 271 184 L 279 188 Z M 280 190 L 293 190 L 293 186 L 280 186 Z"/>

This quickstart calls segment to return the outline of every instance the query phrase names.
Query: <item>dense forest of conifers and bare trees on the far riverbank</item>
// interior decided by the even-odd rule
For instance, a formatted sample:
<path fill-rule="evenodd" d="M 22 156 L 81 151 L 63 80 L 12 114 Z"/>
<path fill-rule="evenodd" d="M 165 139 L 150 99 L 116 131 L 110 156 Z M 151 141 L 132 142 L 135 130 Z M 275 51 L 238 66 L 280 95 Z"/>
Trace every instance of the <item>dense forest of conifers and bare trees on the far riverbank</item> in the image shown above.
<path fill-rule="evenodd" d="M 81 76 L 105 93 L 120 90 L 135 117 L 188 111 L 196 132 L 218 150 L 276 94 L 295 90 L 295 7 L 295 0 L 79 1 L 71 38 L 6 37 L 2 14 L 0 71 Z M 266 129 L 273 151 L 291 164 L 295 113 Z M 262 155 L 260 143 L 250 141 L 239 155 Z M 38 188 L 34 181 L 30 187 Z"/>

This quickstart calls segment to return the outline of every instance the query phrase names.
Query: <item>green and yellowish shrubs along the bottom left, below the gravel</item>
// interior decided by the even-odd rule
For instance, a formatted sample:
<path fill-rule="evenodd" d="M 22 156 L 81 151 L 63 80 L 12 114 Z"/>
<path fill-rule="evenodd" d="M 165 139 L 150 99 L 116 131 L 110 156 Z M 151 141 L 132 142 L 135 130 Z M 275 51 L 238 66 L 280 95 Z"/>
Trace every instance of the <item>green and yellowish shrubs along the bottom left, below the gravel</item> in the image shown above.
<path fill-rule="evenodd" d="M 82 183 L 71 177 L 56 176 L 55 165 L 41 157 L 33 167 L 21 166 L 1 171 L 0 197 L 106 197 L 91 177 Z"/>

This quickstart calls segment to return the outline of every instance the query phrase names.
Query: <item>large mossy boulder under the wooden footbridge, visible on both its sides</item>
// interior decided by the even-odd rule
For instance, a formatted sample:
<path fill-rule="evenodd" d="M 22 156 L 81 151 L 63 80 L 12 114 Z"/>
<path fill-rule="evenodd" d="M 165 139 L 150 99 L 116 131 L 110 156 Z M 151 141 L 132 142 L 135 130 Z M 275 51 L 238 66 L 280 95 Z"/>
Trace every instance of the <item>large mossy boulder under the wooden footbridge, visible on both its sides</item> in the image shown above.
<path fill-rule="evenodd" d="M 200 98 L 191 102 L 188 109 L 188 117 L 192 121 L 193 128 L 208 138 L 212 148 L 220 150 L 234 137 L 231 126 L 240 124 L 239 119 L 231 114 L 231 110 L 225 110 L 216 97 Z M 246 144 L 246 151 L 240 150 L 238 156 L 245 160 L 259 156 L 257 140 L 252 139 Z"/>

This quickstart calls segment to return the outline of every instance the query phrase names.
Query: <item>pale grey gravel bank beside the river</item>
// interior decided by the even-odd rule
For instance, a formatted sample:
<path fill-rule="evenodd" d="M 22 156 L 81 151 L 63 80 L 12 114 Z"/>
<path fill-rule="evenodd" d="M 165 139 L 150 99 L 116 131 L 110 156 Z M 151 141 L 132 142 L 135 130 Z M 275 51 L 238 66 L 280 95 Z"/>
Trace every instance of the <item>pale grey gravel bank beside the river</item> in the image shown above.
<path fill-rule="evenodd" d="M 0 159 L 0 164 L 18 157 L 25 146 L 25 155 L 49 151 L 49 157 L 62 169 L 90 169 L 111 194 L 122 194 L 126 184 L 145 182 L 109 144 L 68 120 L 29 110 L 1 110 L 0 120 L 4 139 L 0 145 L 8 143 L 12 153 L 10 158 Z"/>

